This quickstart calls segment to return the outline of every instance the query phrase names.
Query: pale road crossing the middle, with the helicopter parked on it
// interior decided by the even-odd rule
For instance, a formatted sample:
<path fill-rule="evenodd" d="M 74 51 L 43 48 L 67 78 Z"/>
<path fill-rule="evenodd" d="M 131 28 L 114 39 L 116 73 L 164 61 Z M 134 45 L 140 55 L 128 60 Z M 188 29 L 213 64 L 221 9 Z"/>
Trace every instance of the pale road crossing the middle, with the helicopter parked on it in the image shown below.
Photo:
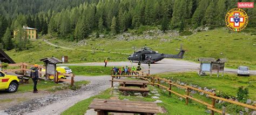
<path fill-rule="evenodd" d="M 59 64 L 64 66 L 69 65 L 80 65 L 80 66 L 104 66 L 104 63 L 77 63 L 77 64 Z M 107 66 L 131 66 L 131 62 L 109 62 Z M 133 63 L 133 65 L 137 66 L 137 63 Z M 177 60 L 177 59 L 163 59 L 156 64 L 151 64 L 150 73 L 163 73 L 163 72 L 180 72 L 180 71 L 198 71 L 199 70 L 198 63 L 189 62 L 187 60 Z M 147 64 L 142 64 L 144 69 L 149 69 Z M 228 69 L 225 68 L 224 72 L 232 72 L 237 73 L 237 69 Z M 251 75 L 256 75 L 256 70 L 250 71 Z"/>

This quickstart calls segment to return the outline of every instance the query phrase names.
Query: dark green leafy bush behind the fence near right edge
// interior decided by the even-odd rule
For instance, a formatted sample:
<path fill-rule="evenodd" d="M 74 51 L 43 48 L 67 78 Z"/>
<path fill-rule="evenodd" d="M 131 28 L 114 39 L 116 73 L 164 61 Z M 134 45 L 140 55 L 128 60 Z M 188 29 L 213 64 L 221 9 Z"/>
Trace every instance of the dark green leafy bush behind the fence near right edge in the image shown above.
<path fill-rule="evenodd" d="M 244 87 L 238 87 L 238 91 L 237 91 L 237 99 L 239 102 L 245 103 L 246 100 L 248 99 L 248 88 L 244 88 Z"/>

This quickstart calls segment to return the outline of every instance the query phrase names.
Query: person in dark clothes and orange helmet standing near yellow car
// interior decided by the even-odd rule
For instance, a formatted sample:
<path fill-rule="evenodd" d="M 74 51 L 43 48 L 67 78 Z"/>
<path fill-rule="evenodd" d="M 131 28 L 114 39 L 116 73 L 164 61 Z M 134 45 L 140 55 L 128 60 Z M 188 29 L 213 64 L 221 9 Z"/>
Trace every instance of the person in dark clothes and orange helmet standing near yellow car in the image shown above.
<path fill-rule="evenodd" d="M 37 81 L 39 79 L 38 77 L 38 65 L 35 64 L 32 68 L 31 68 L 31 72 L 30 72 L 30 77 L 32 78 L 33 80 L 33 83 L 34 83 L 34 86 L 33 86 L 33 93 L 38 93 L 38 90 L 37 90 Z"/>

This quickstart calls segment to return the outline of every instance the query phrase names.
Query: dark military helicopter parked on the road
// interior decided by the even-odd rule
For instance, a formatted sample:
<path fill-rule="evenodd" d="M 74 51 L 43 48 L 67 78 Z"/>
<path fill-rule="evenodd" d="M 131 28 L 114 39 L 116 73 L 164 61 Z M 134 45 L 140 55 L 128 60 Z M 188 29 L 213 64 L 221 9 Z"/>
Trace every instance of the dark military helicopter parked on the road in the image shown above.
<path fill-rule="evenodd" d="M 131 61 L 139 61 L 144 63 L 155 63 L 164 58 L 183 58 L 185 50 L 180 46 L 180 52 L 177 55 L 168 55 L 164 53 L 158 53 L 158 51 L 153 51 L 151 48 L 147 46 L 139 49 L 137 52 L 134 51 L 132 55 L 130 55 L 127 59 Z"/>

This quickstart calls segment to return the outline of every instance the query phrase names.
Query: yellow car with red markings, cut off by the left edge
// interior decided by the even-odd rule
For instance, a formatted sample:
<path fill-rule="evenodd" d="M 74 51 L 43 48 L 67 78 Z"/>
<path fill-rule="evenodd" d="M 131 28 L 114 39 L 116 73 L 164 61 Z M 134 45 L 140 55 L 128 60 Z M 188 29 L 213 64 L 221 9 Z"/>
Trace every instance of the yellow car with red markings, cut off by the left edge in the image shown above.
<path fill-rule="evenodd" d="M 16 92 L 19 87 L 19 79 L 17 76 L 6 75 L 0 71 L 0 90 L 7 90 L 10 93 Z"/>

